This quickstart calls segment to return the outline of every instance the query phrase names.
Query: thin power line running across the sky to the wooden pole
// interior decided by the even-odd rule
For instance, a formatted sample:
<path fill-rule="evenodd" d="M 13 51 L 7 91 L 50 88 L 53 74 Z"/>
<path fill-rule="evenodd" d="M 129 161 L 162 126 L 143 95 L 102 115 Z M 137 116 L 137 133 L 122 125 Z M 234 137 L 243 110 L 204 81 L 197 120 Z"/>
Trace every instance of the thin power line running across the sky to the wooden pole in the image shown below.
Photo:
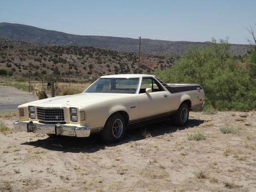
<path fill-rule="evenodd" d="M 30 17 L 35 17 L 35 18 L 39 18 L 39 19 L 49 20 L 49 21 L 55 22 L 55 23 L 61 23 L 61 24 L 70 25 L 70 26 L 74 26 L 74 27 L 81 27 L 81 28 L 91 29 L 91 30 L 95 30 L 95 31 L 106 32 L 106 33 L 109 33 L 109 34 L 117 34 L 117 35 L 124 35 L 124 36 L 130 36 L 130 37 L 133 37 L 133 38 L 137 38 L 137 37 L 135 37 L 133 35 L 127 35 L 127 34 L 122 34 L 122 33 L 116 33 L 116 32 L 113 32 L 113 31 L 95 29 L 95 28 L 81 26 L 81 25 L 76 25 L 76 24 L 71 24 L 71 23 L 67 23 L 67 22 L 61 22 L 59 20 L 54 20 L 54 19 L 45 18 L 45 17 L 39 17 L 39 16 L 36 16 L 36 15 L 22 13 L 22 12 L 17 12 L 17 11 L 13 11 L 13 10 L 10 10 L 10 9 L 5 9 L 5 8 L 0 8 L 0 9 L 5 10 L 5 11 L 9 11 L 9 12 L 13 12 L 13 13 L 17 13 L 17 14 L 21 14 L 21 15 L 25 15 L 25 16 L 30 16 Z"/>

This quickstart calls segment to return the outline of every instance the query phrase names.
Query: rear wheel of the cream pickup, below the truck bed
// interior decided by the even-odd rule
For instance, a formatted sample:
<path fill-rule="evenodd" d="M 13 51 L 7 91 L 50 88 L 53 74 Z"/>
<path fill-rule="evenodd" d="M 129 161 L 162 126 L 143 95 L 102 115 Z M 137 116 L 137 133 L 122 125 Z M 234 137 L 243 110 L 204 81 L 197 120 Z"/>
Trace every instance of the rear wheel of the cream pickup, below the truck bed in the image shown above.
<path fill-rule="evenodd" d="M 173 122 L 177 126 L 184 126 L 189 117 L 189 110 L 186 103 L 181 103 L 177 113 L 174 115 Z"/>

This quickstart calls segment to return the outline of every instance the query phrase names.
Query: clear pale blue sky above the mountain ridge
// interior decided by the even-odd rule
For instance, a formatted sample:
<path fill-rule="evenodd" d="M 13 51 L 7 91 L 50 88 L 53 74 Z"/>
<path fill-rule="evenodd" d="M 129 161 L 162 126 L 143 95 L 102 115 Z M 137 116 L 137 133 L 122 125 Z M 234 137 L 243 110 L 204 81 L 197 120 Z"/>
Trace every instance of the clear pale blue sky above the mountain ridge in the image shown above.
<path fill-rule="evenodd" d="M 188 41 L 228 36 L 247 44 L 255 7 L 255 0 L 2 0 L 0 22 L 80 35 Z"/>

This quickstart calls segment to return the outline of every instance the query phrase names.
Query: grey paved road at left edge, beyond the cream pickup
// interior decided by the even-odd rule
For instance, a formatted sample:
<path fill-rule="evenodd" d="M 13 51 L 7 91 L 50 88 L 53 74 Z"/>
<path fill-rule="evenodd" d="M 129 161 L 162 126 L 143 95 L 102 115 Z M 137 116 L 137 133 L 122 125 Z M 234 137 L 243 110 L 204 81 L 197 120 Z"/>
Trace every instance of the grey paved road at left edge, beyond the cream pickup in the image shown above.
<path fill-rule="evenodd" d="M 35 100 L 38 100 L 38 97 L 33 96 L 32 93 L 10 86 L 0 86 L 0 113 L 16 111 L 18 105 Z"/>

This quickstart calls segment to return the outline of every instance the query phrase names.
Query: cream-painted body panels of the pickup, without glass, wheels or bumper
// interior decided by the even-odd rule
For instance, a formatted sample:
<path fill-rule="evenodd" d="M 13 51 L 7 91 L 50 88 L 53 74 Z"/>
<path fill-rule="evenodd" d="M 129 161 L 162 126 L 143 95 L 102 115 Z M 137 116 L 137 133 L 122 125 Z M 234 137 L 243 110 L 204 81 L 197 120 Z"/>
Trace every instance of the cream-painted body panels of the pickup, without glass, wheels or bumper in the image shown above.
<path fill-rule="evenodd" d="M 109 75 L 105 77 L 139 77 L 140 83 L 142 77 L 152 77 L 152 75 Z M 156 79 L 155 79 L 156 80 Z M 157 81 L 157 80 L 156 80 Z M 140 87 L 140 84 L 139 84 Z M 147 116 L 157 115 L 164 112 L 178 110 L 184 100 L 190 100 L 191 105 L 202 103 L 197 97 L 204 100 L 204 92 L 187 91 L 171 94 L 164 88 L 164 91 L 141 93 L 139 94 L 102 94 L 102 93 L 82 93 L 73 96 L 62 96 L 55 98 L 42 99 L 19 105 L 18 108 L 24 108 L 25 117 L 19 117 L 19 121 L 28 121 L 28 106 L 58 107 L 65 108 L 64 115 L 67 124 L 87 125 L 91 129 L 103 127 L 106 120 L 118 111 L 124 111 L 129 115 L 129 120 L 139 119 Z M 164 95 L 167 95 L 164 97 Z M 70 121 L 69 108 L 78 109 L 78 122 Z M 80 121 L 79 111 L 86 113 L 86 120 Z M 37 121 L 37 119 L 33 120 Z"/>

